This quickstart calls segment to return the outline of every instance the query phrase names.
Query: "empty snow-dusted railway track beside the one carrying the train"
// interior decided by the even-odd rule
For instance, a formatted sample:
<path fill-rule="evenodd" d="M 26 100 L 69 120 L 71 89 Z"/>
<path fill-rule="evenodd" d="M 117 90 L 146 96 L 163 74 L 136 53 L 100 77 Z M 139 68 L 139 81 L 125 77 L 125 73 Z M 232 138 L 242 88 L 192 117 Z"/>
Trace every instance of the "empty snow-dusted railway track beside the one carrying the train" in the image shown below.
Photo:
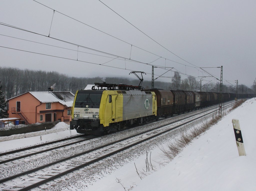
<path fill-rule="evenodd" d="M 229 103 L 228 105 L 231 104 Z M 190 113 L 190 116 L 181 120 L 172 121 L 162 126 L 150 128 L 147 131 L 139 133 L 136 132 L 134 133 L 134 135 L 127 136 L 121 139 L 118 136 L 114 135 L 112 135 L 111 139 L 110 136 L 105 136 L 105 138 L 102 138 L 105 140 L 102 140 L 97 144 L 93 141 L 90 142 L 91 147 L 87 145 L 85 151 L 83 152 L 63 158 L 61 160 L 50 162 L 45 165 L 38 166 L 34 169 L 13 174 L 12 176 L 6 176 L 0 180 L 0 187 L 2 188 L 2 190 L 32 189 L 41 184 L 47 183 L 63 175 L 66 175 L 70 172 L 88 166 L 94 162 L 107 158 L 113 154 L 121 152 L 125 149 L 131 148 L 134 145 L 140 144 L 156 136 L 164 134 L 172 129 L 193 122 L 215 111 L 217 111 L 216 108 L 209 108 L 208 111 L 202 111 L 196 114 Z"/>

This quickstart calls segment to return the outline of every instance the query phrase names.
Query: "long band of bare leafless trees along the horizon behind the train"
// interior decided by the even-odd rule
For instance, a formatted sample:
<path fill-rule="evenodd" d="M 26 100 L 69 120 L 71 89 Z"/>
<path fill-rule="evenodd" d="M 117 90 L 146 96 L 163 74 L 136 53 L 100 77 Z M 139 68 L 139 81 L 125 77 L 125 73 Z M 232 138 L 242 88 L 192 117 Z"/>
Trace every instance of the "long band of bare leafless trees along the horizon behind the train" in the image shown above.
<path fill-rule="evenodd" d="M 156 76 L 157 77 L 157 76 Z M 154 81 L 154 88 L 160 89 L 180 89 L 199 91 L 200 83 L 199 79 L 195 77 L 187 77 L 185 79 L 180 78 L 178 72 L 174 72 L 174 77 L 170 78 L 170 82 L 162 82 L 159 79 Z M 2 83 L 2 91 L 5 93 L 7 99 L 14 96 L 18 96 L 28 91 L 48 91 L 48 88 L 54 86 L 54 91 L 71 91 L 75 93 L 78 89 L 84 89 L 88 84 L 94 84 L 94 82 L 102 83 L 114 83 L 114 84 L 127 84 L 137 86 L 140 83 L 136 78 L 120 78 L 120 77 L 71 77 L 66 74 L 60 74 L 56 71 L 42 71 L 42 70 L 30 70 L 19 69 L 11 67 L 0 67 L 0 81 Z M 206 82 L 205 82 L 206 83 Z M 144 80 L 142 86 L 145 89 L 151 88 L 151 81 Z M 242 86 L 242 85 L 240 85 Z M 242 91 L 239 87 L 238 90 Z M 202 91 L 219 92 L 218 83 L 208 83 L 202 85 Z M 243 91 L 250 93 L 251 89 L 243 86 Z M 223 92 L 235 93 L 236 89 L 232 86 L 224 86 Z M 240 92 L 238 92 L 240 93 Z"/>

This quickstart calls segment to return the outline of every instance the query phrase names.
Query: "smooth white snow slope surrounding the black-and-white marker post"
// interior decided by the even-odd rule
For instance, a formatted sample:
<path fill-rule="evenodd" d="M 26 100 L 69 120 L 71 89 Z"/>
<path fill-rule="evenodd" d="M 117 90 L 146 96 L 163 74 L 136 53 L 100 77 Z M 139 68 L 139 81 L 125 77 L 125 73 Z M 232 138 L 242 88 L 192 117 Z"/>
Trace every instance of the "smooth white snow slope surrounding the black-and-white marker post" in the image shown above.
<path fill-rule="evenodd" d="M 246 101 L 133 190 L 256 190 L 255 111 L 256 99 Z M 238 155 L 232 119 L 240 122 L 247 156 Z"/>

